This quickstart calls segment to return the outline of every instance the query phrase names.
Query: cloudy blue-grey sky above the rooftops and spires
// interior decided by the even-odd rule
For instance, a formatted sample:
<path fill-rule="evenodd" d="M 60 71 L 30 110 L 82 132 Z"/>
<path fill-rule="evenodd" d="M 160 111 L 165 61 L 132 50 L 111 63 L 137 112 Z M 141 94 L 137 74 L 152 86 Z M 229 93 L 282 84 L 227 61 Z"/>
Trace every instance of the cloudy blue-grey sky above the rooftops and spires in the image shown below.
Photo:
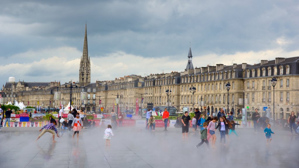
<path fill-rule="evenodd" d="M 0 84 L 78 81 L 87 22 L 91 82 L 299 55 L 299 2 L 34 1 L 0 5 Z"/>

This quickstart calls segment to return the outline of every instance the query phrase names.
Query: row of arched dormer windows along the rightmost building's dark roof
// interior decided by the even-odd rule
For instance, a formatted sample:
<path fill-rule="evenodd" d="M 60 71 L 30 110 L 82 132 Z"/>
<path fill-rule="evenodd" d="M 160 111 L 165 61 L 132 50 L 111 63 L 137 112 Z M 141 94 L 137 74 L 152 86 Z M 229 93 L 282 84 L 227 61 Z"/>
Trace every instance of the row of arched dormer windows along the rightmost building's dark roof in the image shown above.
<path fill-rule="evenodd" d="M 273 74 L 272 74 L 272 68 L 271 67 L 268 67 L 267 69 L 268 71 L 266 71 L 266 68 L 262 68 L 262 76 L 265 77 L 266 75 L 267 76 L 272 76 L 272 75 L 277 75 L 277 68 L 276 66 L 274 66 L 273 70 Z M 250 72 L 251 72 L 251 76 L 250 76 Z M 268 72 L 268 74 L 266 74 L 266 72 Z M 283 74 L 290 74 L 290 66 L 289 65 L 286 65 L 286 71 L 284 73 L 283 71 L 283 66 L 281 65 L 279 67 L 279 75 L 283 75 Z M 260 77 L 260 68 L 257 68 L 257 74 L 255 73 L 255 69 L 252 69 L 251 71 L 250 70 L 247 70 L 247 77 L 255 77 L 255 75 L 257 75 L 257 77 Z"/>

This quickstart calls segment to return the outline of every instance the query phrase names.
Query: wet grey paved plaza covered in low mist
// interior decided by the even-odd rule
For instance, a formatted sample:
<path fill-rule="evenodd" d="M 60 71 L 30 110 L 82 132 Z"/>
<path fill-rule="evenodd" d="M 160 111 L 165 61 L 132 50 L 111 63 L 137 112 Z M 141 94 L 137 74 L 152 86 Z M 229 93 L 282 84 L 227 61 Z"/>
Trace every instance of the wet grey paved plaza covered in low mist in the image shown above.
<path fill-rule="evenodd" d="M 113 129 L 111 146 L 105 145 L 104 129 L 83 129 L 79 140 L 70 132 L 51 141 L 45 133 L 37 142 L 39 128 L 2 128 L 0 132 L 0 167 L 17 168 L 164 168 L 164 167 L 299 167 L 299 140 L 287 131 L 275 131 L 272 143 L 266 146 L 263 133 L 252 129 L 236 129 L 240 139 L 230 136 L 226 146 L 220 146 L 216 131 L 217 149 L 199 149 L 199 132 L 189 132 L 182 139 L 180 128 L 156 128 L 150 132 L 142 128 Z"/>

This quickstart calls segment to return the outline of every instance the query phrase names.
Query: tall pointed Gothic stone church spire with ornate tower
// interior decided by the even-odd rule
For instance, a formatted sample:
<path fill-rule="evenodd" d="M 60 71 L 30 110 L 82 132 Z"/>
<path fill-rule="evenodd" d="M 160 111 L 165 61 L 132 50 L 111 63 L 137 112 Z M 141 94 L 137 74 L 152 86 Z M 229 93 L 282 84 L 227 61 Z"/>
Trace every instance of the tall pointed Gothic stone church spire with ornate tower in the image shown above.
<path fill-rule="evenodd" d="M 83 54 L 81 57 L 80 69 L 79 69 L 79 83 L 80 85 L 88 85 L 90 83 L 90 57 L 88 56 L 86 23 L 85 23 L 85 36 L 84 36 L 84 43 L 83 43 Z"/>

